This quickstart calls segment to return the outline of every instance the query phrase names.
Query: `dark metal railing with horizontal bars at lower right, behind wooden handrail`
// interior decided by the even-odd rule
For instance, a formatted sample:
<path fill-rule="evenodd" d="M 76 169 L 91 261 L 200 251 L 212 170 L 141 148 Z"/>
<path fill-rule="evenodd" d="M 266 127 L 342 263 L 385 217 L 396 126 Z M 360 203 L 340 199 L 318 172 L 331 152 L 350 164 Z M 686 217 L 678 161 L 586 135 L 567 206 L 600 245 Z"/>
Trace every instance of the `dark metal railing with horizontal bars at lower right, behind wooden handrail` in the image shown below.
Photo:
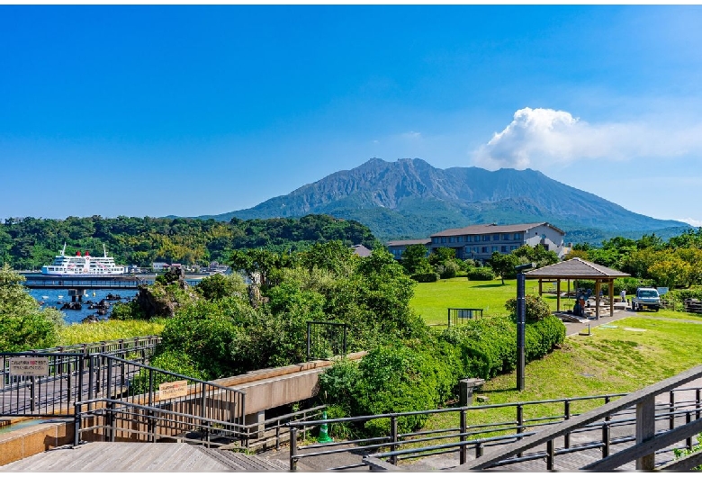
<path fill-rule="evenodd" d="M 676 392 L 694 391 L 694 400 L 676 401 Z M 699 388 L 678 389 L 671 391 L 670 402 L 659 404 L 655 407 L 654 420 L 661 426 L 674 428 L 681 421 L 689 422 L 691 419 L 699 419 L 702 411 Z M 348 452 L 348 447 L 353 446 L 354 451 L 368 451 L 365 459 L 358 464 L 351 464 L 344 468 L 360 468 L 371 465 L 375 469 L 393 470 L 400 460 L 424 457 L 428 455 L 440 455 L 457 452 L 456 465 L 466 464 L 469 460 L 469 453 L 473 453 L 475 459 L 481 458 L 486 452 L 494 450 L 499 452 L 500 448 L 522 442 L 529 437 L 544 434 L 549 428 L 571 422 L 582 414 L 573 412 L 574 408 L 580 406 L 581 401 L 602 400 L 605 406 L 613 405 L 622 399 L 626 394 L 608 394 L 599 396 L 584 396 L 577 398 L 567 398 L 562 400 L 527 401 L 507 404 L 492 404 L 484 406 L 468 406 L 462 408 L 452 408 L 445 410 L 423 410 L 415 412 L 391 413 L 376 416 L 362 416 L 343 419 L 327 419 L 307 422 L 308 426 L 320 426 L 328 424 L 331 428 L 334 424 L 356 424 L 363 425 L 371 419 L 387 419 L 388 434 L 382 437 L 358 437 L 356 439 L 337 440 L 330 444 L 314 444 L 311 446 L 298 446 L 291 437 L 290 445 L 290 468 L 295 470 L 297 463 L 301 460 L 319 455 L 333 455 Z M 617 400 L 618 399 L 618 400 Z M 614 401 L 617 400 L 617 401 Z M 561 407 L 562 412 L 544 415 L 544 406 Z M 513 408 L 516 419 L 500 422 L 481 422 L 480 417 L 486 410 L 498 408 Z M 552 408 L 554 409 L 554 408 Z M 442 422 L 453 420 L 458 426 L 453 428 L 423 429 L 416 432 L 399 433 L 399 419 L 406 419 L 409 416 L 431 416 L 435 414 L 453 413 L 458 414 L 453 419 L 443 418 Z M 530 415 L 528 418 L 527 415 Z M 469 422 L 473 422 L 469 425 Z M 592 452 L 592 449 L 599 450 L 600 458 L 610 455 L 613 446 L 631 445 L 635 443 L 636 437 L 633 433 L 636 423 L 636 410 L 626 408 L 612 413 L 600 420 L 590 422 L 587 426 L 573 428 L 564 432 L 563 446 L 556 447 L 553 444 L 546 446 L 545 450 L 538 450 L 531 454 L 518 452 L 515 455 L 505 457 L 500 461 L 501 466 L 508 464 L 519 464 L 527 461 L 545 461 L 545 470 L 554 469 L 554 457 L 556 455 L 569 455 L 584 451 Z M 294 432 L 294 424 L 291 430 Z M 577 436 L 577 439 L 572 437 Z M 692 439 L 685 437 L 682 439 L 685 447 L 692 448 Z M 389 461 L 389 462 L 386 462 Z M 492 467 L 484 467 L 492 468 Z M 500 467 L 497 467 L 500 468 Z M 335 468 L 328 470 L 342 470 Z"/>

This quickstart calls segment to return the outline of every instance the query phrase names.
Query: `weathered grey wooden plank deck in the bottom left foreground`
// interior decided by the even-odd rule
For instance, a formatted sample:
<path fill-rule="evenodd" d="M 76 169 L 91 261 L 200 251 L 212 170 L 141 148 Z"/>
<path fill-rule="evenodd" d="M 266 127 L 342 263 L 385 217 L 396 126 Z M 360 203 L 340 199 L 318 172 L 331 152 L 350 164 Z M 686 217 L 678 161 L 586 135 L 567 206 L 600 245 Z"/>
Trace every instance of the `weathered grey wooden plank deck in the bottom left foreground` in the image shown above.
<path fill-rule="evenodd" d="M 93 442 L 0 467 L 8 472 L 286 472 L 275 459 L 187 444 Z"/>

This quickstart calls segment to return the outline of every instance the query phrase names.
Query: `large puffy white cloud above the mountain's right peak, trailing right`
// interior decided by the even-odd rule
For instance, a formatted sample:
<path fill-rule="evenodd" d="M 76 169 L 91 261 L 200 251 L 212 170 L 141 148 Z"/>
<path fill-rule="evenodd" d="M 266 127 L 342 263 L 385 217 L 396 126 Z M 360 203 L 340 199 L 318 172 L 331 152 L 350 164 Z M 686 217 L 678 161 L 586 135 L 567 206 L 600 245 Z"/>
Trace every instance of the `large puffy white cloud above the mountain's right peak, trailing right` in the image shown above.
<path fill-rule="evenodd" d="M 675 129 L 661 122 L 590 124 L 570 112 L 524 108 L 514 113 L 504 130 L 474 151 L 473 162 L 489 169 L 545 170 L 549 165 L 583 159 L 702 155 L 702 124 Z"/>

